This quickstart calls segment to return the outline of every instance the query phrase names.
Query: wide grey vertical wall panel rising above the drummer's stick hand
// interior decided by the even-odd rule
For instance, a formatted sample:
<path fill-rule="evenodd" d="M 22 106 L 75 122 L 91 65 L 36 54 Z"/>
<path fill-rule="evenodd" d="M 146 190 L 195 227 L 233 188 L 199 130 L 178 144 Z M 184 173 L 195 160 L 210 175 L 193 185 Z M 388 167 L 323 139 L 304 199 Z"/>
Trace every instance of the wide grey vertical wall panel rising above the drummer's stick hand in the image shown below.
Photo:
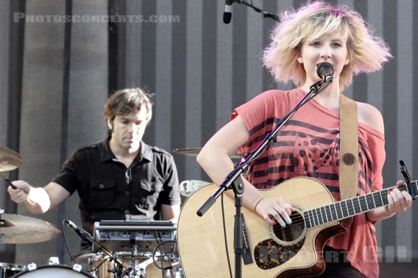
<path fill-rule="evenodd" d="M 64 3 L 26 1 L 26 13 L 62 15 Z M 35 22 L 25 26 L 20 130 L 20 154 L 24 165 L 20 168 L 19 178 L 33 186 L 47 184 L 60 167 L 63 27 L 62 22 Z M 51 43 L 51 38 L 55 43 Z M 22 205 L 17 212 L 27 214 Z M 54 223 L 56 211 L 37 215 L 37 218 Z M 44 251 L 42 254 L 37 251 L 39 248 Z M 36 258 L 33 257 L 35 253 L 38 254 Z M 46 263 L 48 254 L 56 254 L 56 242 L 18 245 L 16 262 L 26 263 L 32 259 L 42 264 Z"/>

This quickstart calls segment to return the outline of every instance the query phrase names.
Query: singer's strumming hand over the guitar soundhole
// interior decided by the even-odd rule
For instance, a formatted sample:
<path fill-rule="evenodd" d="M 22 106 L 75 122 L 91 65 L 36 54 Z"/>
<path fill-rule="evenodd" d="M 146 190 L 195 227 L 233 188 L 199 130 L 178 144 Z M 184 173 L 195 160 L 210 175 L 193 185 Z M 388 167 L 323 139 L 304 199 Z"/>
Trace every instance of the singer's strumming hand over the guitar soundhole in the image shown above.
<path fill-rule="evenodd" d="M 295 208 L 279 197 L 261 199 L 256 205 L 256 213 L 269 224 L 276 224 L 276 221 L 281 227 L 286 227 L 287 224 L 292 224 L 290 215 Z"/>

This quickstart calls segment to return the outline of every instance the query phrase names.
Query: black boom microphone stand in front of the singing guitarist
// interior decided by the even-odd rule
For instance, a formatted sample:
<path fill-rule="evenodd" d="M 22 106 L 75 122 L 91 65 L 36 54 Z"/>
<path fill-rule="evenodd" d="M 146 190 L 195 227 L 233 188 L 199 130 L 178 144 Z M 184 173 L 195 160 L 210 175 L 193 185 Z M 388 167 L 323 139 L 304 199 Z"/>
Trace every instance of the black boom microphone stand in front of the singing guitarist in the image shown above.
<path fill-rule="evenodd" d="M 270 133 L 268 133 L 267 136 L 261 141 L 261 143 L 245 158 L 245 161 L 241 161 L 229 174 L 228 176 L 222 181 L 221 185 L 217 189 L 217 191 L 206 200 L 206 202 L 199 208 L 199 210 L 196 212 L 197 215 L 203 216 L 203 214 L 208 211 L 208 209 L 215 204 L 217 197 L 224 193 L 225 190 L 233 189 L 233 193 L 235 195 L 235 216 L 234 216 L 234 233 L 233 233 L 233 245 L 234 245 L 234 253 L 235 253 L 235 278 L 241 278 L 242 277 L 242 261 L 241 256 L 244 252 L 243 244 L 242 244 L 242 194 L 244 193 L 244 183 L 242 182 L 241 174 L 247 170 L 247 167 L 251 161 L 254 161 L 258 156 L 263 154 L 265 149 L 268 148 L 268 145 L 270 145 L 270 142 L 273 140 L 273 138 L 276 137 L 277 132 L 279 129 L 281 129 L 286 122 L 292 117 L 293 114 L 296 113 L 297 110 L 299 110 L 300 107 L 302 107 L 304 104 L 307 104 L 307 102 L 316 95 L 318 95 L 319 92 L 327 88 L 330 83 L 326 83 L 322 88 L 321 85 L 323 85 L 325 81 L 321 80 L 313 85 L 311 85 L 311 90 L 307 93 L 306 96 L 293 108 L 293 110 L 285 115 L 276 126 L 274 126 L 274 129 Z"/>

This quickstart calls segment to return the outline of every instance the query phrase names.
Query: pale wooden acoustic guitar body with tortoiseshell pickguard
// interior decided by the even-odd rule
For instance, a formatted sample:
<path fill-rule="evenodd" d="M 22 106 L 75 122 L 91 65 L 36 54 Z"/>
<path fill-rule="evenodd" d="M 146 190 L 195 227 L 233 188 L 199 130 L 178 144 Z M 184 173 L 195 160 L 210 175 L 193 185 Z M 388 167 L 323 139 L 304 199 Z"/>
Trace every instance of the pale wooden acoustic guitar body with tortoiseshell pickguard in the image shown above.
<path fill-rule="evenodd" d="M 200 188 L 186 200 L 180 213 L 177 237 L 181 264 L 187 278 L 229 277 L 222 224 L 221 198 L 203 215 L 196 211 L 215 193 L 217 185 Z M 279 186 L 262 190 L 268 197 L 281 197 L 302 214 L 334 202 L 327 188 L 315 179 L 297 177 Z M 233 223 L 234 200 L 224 197 L 226 236 L 234 276 Z M 325 242 L 346 231 L 339 221 L 306 229 L 302 215 L 299 224 L 293 220 L 293 236 L 281 236 L 279 225 L 270 225 L 257 213 L 242 207 L 252 263 L 242 263 L 242 277 L 304 277 L 320 275 L 325 268 L 321 255 Z M 292 224 L 292 225 L 293 225 Z M 292 226 L 291 226 L 292 227 Z M 289 227 L 289 229 L 291 229 Z"/>

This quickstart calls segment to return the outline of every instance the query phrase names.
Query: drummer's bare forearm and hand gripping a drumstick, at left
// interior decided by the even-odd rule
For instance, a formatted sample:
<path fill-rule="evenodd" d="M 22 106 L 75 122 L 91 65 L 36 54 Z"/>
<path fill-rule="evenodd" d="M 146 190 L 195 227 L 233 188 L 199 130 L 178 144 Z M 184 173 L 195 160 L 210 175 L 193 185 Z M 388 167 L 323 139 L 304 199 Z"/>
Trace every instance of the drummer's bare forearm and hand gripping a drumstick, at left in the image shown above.
<path fill-rule="evenodd" d="M 44 188 L 35 188 L 26 181 L 12 183 L 17 189 L 7 188 L 10 198 L 17 204 L 23 202 L 31 213 L 46 213 L 70 196 L 59 183 L 50 182 Z"/>

